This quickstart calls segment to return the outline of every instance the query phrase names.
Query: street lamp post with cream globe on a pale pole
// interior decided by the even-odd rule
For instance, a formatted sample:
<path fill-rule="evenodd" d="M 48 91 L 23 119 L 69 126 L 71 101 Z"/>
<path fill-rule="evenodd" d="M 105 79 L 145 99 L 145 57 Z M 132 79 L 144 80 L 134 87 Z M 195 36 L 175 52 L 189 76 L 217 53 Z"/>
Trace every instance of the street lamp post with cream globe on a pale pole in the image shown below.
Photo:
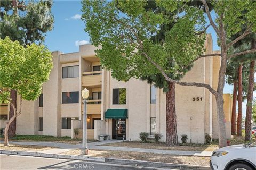
<path fill-rule="evenodd" d="M 82 90 L 82 97 L 83 97 L 83 103 L 84 103 L 84 116 L 83 116 L 83 145 L 81 149 L 81 155 L 88 155 L 88 148 L 87 148 L 87 113 L 86 113 L 86 104 L 87 104 L 87 98 L 89 97 L 89 90 L 84 88 Z"/>

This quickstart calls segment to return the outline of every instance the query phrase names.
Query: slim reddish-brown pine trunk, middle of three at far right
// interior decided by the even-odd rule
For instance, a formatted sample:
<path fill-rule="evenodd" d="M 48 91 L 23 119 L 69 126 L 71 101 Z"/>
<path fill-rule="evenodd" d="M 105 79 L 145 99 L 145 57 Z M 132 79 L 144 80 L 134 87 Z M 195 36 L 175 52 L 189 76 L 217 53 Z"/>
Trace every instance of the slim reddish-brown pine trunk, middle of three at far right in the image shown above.
<path fill-rule="evenodd" d="M 238 68 L 238 116 L 237 116 L 237 130 L 236 130 L 236 133 L 238 136 L 242 136 L 242 112 L 243 112 L 242 69 L 243 69 L 243 65 L 240 64 Z"/>

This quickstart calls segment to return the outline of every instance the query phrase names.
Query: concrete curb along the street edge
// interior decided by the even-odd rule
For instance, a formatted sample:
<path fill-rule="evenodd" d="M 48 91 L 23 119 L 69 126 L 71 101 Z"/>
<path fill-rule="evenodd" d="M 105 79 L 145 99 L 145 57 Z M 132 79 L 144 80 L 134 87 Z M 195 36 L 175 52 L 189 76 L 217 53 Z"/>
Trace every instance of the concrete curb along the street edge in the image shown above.
<path fill-rule="evenodd" d="M 34 156 L 34 157 L 44 157 L 44 158 L 58 158 L 58 159 L 87 160 L 87 161 L 91 161 L 91 162 L 104 162 L 104 163 L 109 163 L 109 164 L 123 164 L 123 165 L 133 165 L 133 166 L 156 167 L 156 168 L 191 169 L 191 170 L 194 170 L 194 169 L 210 170 L 211 169 L 208 166 L 171 164 L 171 163 L 161 163 L 161 162 L 147 162 L 144 160 L 129 160 L 129 159 L 115 159 L 115 158 L 60 155 L 60 154 L 45 154 L 45 153 L 40 153 L 40 152 L 29 152 L 29 151 L 0 150 L 0 154 Z"/>

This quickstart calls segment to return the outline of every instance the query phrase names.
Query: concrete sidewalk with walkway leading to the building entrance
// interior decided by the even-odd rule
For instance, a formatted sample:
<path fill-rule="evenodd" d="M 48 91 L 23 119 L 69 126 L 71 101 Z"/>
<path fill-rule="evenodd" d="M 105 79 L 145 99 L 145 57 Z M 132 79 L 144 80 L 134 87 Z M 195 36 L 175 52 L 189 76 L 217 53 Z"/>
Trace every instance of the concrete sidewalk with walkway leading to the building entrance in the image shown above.
<path fill-rule="evenodd" d="M 98 150 L 132 151 L 132 152 L 146 152 L 146 153 L 152 153 L 152 154 L 204 156 L 204 157 L 210 157 L 212 155 L 212 151 L 181 151 L 181 150 L 101 146 L 103 144 L 116 143 L 116 142 L 122 142 L 122 140 L 106 140 L 106 141 L 100 141 L 100 142 L 91 142 L 91 143 L 87 143 L 87 145 L 89 149 L 98 149 Z M 3 141 L 1 141 L 0 143 L 3 143 Z M 16 144 L 16 145 L 37 145 L 37 146 L 55 147 L 54 149 L 39 151 L 47 154 L 61 154 L 62 152 L 82 148 L 82 144 L 74 145 L 69 143 L 57 143 L 57 142 L 10 141 L 9 143 Z"/>

